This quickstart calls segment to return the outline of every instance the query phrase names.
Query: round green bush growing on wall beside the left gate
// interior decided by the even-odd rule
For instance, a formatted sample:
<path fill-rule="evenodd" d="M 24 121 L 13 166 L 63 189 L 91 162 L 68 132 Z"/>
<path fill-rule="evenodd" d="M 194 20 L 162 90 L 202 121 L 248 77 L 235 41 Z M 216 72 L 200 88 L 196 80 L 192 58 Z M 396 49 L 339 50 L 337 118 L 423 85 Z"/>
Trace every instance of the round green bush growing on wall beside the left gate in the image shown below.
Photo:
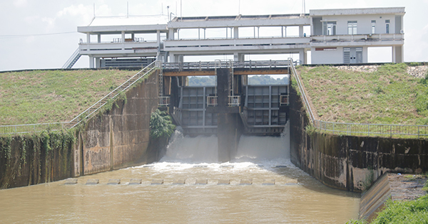
<path fill-rule="evenodd" d="M 150 117 L 150 136 L 153 139 L 169 138 L 175 130 L 173 119 L 168 112 L 156 109 Z"/>

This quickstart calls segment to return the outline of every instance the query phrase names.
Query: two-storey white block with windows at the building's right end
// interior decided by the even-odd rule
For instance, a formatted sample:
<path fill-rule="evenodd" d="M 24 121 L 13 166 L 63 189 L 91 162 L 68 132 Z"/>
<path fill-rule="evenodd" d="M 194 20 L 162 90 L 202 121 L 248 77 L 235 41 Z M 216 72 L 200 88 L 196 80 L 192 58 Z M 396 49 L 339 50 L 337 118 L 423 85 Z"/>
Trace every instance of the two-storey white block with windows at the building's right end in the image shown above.
<path fill-rule="evenodd" d="M 402 8 L 310 10 L 313 64 L 367 63 L 367 48 L 392 47 L 403 58 Z"/>

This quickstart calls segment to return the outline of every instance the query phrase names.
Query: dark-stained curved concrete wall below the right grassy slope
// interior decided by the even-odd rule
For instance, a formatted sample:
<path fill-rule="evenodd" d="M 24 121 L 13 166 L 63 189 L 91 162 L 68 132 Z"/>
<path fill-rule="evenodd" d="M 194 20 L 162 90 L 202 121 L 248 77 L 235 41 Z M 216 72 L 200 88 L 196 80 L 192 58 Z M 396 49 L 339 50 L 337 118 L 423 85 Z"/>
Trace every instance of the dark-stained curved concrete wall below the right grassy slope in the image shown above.
<path fill-rule="evenodd" d="M 387 171 L 428 171 L 428 139 L 321 134 L 309 124 L 300 97 L 290 90 L 290 156 L 293 164 L 333 188 L 360 192 Z M 370 177 L 372 176 L 372 180 Z"/>

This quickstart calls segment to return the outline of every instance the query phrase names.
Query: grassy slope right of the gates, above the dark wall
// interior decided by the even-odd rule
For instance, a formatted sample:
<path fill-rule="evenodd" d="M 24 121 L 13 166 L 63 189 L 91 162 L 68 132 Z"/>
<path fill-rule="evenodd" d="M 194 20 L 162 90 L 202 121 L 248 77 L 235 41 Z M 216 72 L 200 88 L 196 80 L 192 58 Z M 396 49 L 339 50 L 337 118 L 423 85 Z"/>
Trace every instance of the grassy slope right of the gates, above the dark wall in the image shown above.
<path fill-rule="evenodd" d="M 330 122 L 428 124 L 428 84 L 407 65 L 382 65 L 374 73 L 330 67 L 297 69 L 315 108 Z"/>

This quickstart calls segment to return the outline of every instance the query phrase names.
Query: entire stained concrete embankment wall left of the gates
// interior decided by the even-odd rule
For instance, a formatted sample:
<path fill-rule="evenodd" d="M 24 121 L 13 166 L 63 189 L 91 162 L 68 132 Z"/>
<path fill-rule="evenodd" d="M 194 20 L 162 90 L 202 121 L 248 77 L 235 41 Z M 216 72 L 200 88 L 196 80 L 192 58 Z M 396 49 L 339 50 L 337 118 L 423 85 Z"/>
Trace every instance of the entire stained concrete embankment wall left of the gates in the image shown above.
<path fill-rule="evenodd" d="M 158 107 L 158 73 L 126 92 L 110 111 L 69 133 L 0 137 L 0 188 L 96 174 L 158 159 L 165 141 L 151 142 L 149 122 Z M 149 144 L 150 143 L 150 144 Z"/>

